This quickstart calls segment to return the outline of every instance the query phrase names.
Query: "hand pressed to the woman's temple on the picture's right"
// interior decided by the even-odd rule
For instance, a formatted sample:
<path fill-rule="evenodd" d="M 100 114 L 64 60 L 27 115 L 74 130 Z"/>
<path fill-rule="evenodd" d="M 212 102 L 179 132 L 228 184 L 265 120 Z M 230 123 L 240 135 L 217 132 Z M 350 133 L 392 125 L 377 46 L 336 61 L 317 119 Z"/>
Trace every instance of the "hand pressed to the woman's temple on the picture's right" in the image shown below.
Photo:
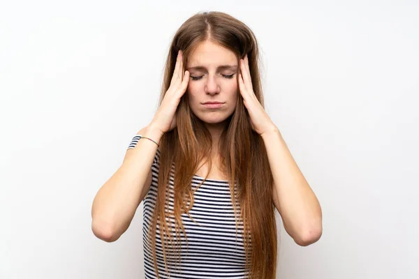
<path fill-rule="evenodd" d="M 277 129 L 253 92 L 247 54 L 244 59 L 240 59 L 239 89 L 244 100 L 244 106 L 249 112 L 251 128 L 259 135 Z"/>

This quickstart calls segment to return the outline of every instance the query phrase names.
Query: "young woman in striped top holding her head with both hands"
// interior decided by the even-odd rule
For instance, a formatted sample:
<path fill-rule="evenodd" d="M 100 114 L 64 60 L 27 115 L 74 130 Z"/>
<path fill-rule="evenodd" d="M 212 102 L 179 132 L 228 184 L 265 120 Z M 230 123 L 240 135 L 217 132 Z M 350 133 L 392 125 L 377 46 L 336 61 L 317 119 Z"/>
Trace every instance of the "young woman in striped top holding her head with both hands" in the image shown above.
<path fill-rule="evenodd" d="M 275 278 L 275 208 L 300 246 L 321 236 L 318 199 L 264 110 L 256 38 L 230 15 L 175 34 L 159 110 L 96 194 L 94 234 L 119 239 L 143 199 L 145 278 Z"/>

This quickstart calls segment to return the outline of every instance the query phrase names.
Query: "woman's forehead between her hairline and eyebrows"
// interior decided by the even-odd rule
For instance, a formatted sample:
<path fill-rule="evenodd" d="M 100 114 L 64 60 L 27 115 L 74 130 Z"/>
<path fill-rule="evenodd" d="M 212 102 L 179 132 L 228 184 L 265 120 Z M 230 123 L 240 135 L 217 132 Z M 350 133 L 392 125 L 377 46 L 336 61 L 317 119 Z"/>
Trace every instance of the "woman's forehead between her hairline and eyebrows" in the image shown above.
<path fill-rule="evenodd" d="M 225 64 L 237 65 L 235 53 L 226 47 L 212 43 L 210 40 L 200 43 L 189 55 L 188 59 L 189 67 L 205 66 L 216 68 Z"/>

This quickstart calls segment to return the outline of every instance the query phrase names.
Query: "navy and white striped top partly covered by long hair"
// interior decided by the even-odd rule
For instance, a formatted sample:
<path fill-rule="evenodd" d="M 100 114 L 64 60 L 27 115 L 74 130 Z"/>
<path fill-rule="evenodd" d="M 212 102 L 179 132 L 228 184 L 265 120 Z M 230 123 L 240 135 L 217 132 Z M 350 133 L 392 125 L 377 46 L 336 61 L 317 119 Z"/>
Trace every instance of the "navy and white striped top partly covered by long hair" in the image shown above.
<path fill-rule="evenodd" d="M 128 149 L 134 148 L 139 139 L 140 136 L 135 136 Z M 152 164 L 152 185 L 143 199 L 142 232 L 146 279 L 157 278 L 151 250 L 152 243 L 149 242 L 147 236 L 151 229 L 152 213 L 156 204 L 159 156 L 160 149 L 157 149 Z M 168 188 L 170 211 L 173 209 L 173 173 L 172 169 Z M 203 177 L 194 175 L 191 181 L 192 189 L 197 188 L 202 181 L 204 181 Z M 240 212 L 240 204 L 237 203 L 236 209 Z M 244 270 L 246 259 L 242 239 L 243 223 L 242 220 L 237 220 L 236 237 L 236 223 L 228 181 L 206 179 L 194 193 L 194 203 L 189 214 L 198 225 L 186 213 L 182 214 L 182 224 L 186 231 L 189 251 L 186 251 L 186 239 L 181 230 L 180 266 L 179 264 L 175 266 L 179 255 L 166 258 L 170 277 L 163 262 L 159 223 L 157 224 L 157 233 L 154 237 L 160 278 L 247 278 L 247 272 Z M 174 237 L 177 240 L 175 235 Z M 167 250 L 166 256 L 168 256 Z"/>

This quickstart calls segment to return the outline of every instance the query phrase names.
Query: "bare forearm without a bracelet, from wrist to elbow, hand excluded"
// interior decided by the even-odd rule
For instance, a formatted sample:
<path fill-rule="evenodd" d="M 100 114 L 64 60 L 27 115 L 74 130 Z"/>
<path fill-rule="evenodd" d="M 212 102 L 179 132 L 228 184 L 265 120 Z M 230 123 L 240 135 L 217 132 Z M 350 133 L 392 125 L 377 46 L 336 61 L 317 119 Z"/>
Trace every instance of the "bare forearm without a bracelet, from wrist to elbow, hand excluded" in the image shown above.
<path fill-rule="evenodd" d="M 295 243 L 308 246 L 318 241 L 323 232 L 321 206 L 279 130 L 263 135 L 263 141 L 274 176 L 275 207 Z"/>

